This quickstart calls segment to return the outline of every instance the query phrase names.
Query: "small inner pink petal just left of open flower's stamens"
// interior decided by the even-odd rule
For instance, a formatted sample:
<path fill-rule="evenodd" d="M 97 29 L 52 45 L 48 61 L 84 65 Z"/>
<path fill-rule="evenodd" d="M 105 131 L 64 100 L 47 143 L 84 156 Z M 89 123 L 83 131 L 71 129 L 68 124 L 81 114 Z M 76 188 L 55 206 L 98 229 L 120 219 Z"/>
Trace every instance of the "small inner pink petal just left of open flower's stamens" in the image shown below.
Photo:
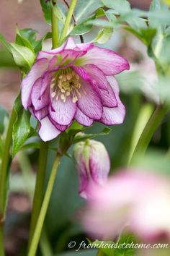
<path fill-rule="evenodd" d="M 45 87 L 45 92 L 41 95 L 41 88 Z M 32 87 L 31 93 L 32 105 L 35 110 L 40 110 L 41 108 L 45 108 L 50 102 L 50 92 L 47 85 L 42 85 L 42 78 L 40 77 Z"/>

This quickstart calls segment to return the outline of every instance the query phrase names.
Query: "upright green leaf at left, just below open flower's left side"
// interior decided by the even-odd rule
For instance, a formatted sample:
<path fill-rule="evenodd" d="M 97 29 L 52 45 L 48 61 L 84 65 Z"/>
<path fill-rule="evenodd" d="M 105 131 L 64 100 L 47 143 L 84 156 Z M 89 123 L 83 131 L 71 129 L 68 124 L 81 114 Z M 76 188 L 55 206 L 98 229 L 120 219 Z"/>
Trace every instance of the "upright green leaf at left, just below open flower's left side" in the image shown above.
<path fill-rule="evenodd" d="M 12 132 L 12 158 L 14 158 L 14 155 L 22 148 L 25 140 L 29 137 L 31 128 L 30 113 L 24 110 L 20 95 L 14 103 L 14 110 L 17 113 L 17 120 L 14 123 Z"/>

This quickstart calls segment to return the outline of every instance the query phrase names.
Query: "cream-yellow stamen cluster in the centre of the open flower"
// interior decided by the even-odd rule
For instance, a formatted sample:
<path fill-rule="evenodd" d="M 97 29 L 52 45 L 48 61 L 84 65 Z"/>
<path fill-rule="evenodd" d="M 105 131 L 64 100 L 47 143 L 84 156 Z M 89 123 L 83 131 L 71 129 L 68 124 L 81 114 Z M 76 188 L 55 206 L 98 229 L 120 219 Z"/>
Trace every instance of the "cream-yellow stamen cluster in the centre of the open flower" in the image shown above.
<path fill-rule="evenodd" d="M 73 103 L 76 103 L 81 98 L 81 83 L 79 80 L 79 75 L 73 69 L 59 70 L 51 80 L 51 97 L 55 98 L 56 101 L 61 98 L 63 102 L 66 102 L 66 98 L 71 95 Z"/>

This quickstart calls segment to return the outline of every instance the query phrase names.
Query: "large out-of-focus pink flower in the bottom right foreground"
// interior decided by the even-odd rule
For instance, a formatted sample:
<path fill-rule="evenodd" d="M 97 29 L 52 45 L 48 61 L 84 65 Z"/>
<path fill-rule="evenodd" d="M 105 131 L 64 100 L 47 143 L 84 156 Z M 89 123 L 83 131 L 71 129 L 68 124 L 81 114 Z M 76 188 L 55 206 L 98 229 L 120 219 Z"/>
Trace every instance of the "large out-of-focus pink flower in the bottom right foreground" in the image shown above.
<path fill-rule="evenodd" d="M 114 239 L 125 229 L 143 241 L 170 241 L 170 180 L 158 174 L 124 171 L 102 187 L 89 188 L 84 229 Z"/>

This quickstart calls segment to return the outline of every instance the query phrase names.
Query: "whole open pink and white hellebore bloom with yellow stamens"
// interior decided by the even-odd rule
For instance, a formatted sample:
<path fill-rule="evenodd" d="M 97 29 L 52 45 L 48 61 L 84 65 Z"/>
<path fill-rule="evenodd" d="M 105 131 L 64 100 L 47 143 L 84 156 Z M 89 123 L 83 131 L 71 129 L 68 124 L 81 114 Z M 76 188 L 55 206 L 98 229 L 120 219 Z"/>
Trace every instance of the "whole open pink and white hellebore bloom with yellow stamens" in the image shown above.
<path fill-rule="evenodd" d="M 93 43 L 76 45 L 72 38 L 40 51 L 22 81 L 22 104 L 40 121 L 42 140 L 57 137 L 73 119 L 85 126 L 121 124 L 125 106 L 114 75 L 125 69 L 128 61 L 114 51 Z"/>

